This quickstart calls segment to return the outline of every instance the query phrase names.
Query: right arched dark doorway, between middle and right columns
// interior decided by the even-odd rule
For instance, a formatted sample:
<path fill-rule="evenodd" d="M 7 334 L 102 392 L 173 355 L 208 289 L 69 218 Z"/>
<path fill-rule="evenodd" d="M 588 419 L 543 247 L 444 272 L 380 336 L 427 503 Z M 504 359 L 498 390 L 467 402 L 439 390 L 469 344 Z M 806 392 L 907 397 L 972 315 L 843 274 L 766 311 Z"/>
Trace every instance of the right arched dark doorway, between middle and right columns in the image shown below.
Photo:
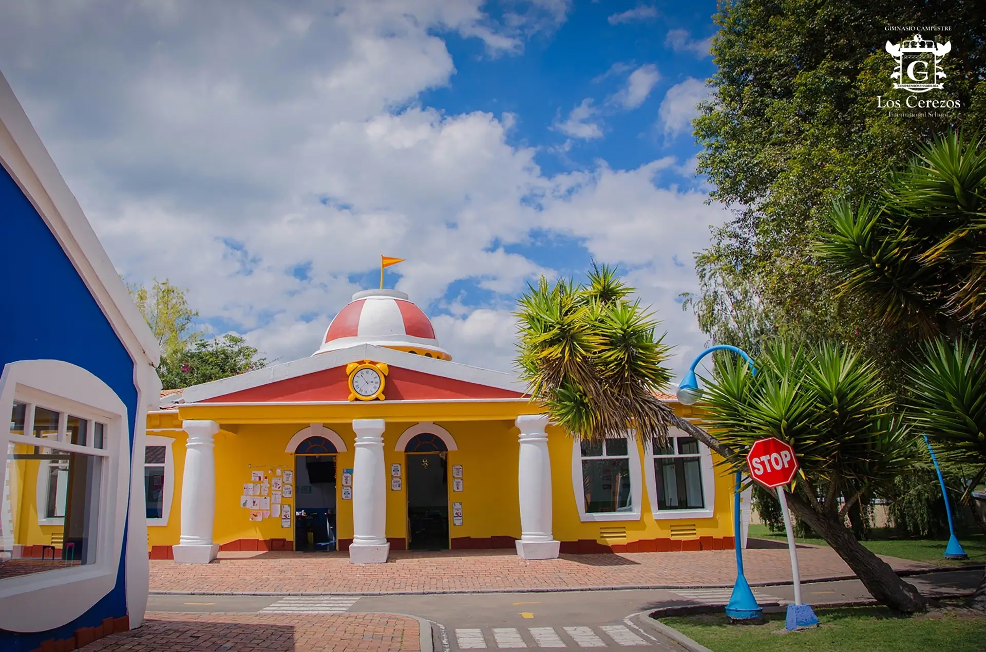
<path fill-rule="evenodd" d="M 449 548 L 449 465 L 445 443 L 434 435 L 418 435 L 407 452 L 407 547 Z"/>

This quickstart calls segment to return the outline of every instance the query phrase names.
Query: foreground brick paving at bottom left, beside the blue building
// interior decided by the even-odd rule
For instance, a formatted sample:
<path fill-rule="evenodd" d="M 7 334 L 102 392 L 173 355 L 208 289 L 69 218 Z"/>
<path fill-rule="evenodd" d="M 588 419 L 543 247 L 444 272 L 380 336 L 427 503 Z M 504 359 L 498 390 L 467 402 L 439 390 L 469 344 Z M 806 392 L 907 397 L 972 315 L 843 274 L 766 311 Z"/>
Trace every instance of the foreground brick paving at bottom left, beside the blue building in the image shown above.
<path fill-rule="evenodd" d="M 389 614 L 148 614 L 143 626 L 85 652 L 397 652 L 420 650 L 418 621 Z"/>

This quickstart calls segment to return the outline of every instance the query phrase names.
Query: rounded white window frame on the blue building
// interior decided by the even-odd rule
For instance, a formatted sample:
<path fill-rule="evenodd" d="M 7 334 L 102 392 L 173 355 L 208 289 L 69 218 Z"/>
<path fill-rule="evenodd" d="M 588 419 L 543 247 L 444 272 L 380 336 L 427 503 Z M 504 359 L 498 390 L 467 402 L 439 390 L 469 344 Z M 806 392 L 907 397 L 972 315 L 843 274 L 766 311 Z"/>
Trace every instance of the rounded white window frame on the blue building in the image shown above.
<path fill-rule="evenodd" d="M 0 410 L 6 410 L 0 417 L 0 451 L 5 453 L 0 483 L 6 482 L 6 454 L 14 444 L 36 446 L 46 441 L 11 433 L 6 414 L 15 400 L 106 424 L 102 449 L 67 442 L 57 446 L 61 451 L 104 458 L 95 561 L 0 580 L 0 628 L 43 631 L 82 616 L 116 585 L 129 504 L 130 430 L 126 405 L 86 369 L 61 360 L 8 363 L 0 376 Z M 34 412 L 29 413 L 33 421 Z M 5 533 L 10 525 L 4 524 Z"/>

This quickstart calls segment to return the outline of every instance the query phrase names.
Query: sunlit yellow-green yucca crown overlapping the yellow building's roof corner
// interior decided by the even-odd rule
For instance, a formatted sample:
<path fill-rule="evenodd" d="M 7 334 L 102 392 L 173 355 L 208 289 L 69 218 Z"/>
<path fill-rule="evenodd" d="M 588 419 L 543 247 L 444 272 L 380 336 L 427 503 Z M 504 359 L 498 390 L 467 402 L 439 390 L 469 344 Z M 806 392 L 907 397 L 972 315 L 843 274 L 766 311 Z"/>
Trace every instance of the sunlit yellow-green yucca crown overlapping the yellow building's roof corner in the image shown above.
<path fill-rule="evenodd" d="M 588 440 L 622 436 L 663 439 L 671 408 L 656 396 L 667 387 L 669 346 L 614 268 L 596 265 L 589 282 L 543 277 L 519 300 L 518 368 L 532 398 L 551 419 Z"/>

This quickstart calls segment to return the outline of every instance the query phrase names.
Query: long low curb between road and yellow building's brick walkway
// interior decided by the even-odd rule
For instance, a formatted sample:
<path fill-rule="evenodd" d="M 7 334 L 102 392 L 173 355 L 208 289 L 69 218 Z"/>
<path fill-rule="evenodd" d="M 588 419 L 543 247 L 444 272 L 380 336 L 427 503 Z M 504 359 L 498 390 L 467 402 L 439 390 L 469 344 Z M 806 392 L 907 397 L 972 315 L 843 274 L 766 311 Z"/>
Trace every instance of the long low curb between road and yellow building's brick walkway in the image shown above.
<path fill-rule="evenodd" d="M 984 570 L 986 564 L 970 564 L 968 566 L 936 566 L 934 568 L 919 568 L 912 570 L 894 571 L 898 577 L 914 575 L 932 575 L 934 573 L 952 573 L 966 570 Z M 855 575 L 833 575 L 802 580 L 802 584 L 819 584 L 822 582 L 842 582 L 858 579 Z M 793 582 L 750 582 L 752 588 L 772 586 L 791 586 Z M 304 592 L 304 591 L 150 591 L 152 596 L 441 596 L 441 595 L 484 595 L 498 593 L 584 593 L 587 591 L 655 591 L 674 589 L 729 589 L 730 584 L 635 584 L 612 586 L 573 586 L 573 587 L 524 587 L 513 589 L 429 589 L 420 591 L 334 591 Z"/>

